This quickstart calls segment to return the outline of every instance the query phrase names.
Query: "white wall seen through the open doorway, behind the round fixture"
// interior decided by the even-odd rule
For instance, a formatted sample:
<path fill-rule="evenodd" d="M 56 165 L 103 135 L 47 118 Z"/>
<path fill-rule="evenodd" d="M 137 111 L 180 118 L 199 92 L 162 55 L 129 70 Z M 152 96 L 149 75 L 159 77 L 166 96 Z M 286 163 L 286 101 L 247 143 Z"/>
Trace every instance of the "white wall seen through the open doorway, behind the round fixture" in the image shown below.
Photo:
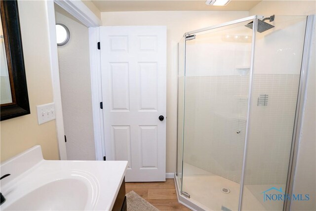
<path fill-rule="evenodd" d="M 56 4 L 55 18 L 70 31 L 57 47 L 67 158 L 95 160 L 88 28 Z"/>

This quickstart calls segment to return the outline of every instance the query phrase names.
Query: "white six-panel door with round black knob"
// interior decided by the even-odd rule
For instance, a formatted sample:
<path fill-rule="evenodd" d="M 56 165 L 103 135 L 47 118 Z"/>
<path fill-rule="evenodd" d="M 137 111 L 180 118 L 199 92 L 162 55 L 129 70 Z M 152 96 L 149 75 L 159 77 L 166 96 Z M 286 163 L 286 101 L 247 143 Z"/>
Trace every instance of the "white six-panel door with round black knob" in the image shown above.
<path fill-rule="evenodd" d="M 166 27 L 100 27 L 100 43 L 106 160 L 128 161 L 127 182 L 165 181 Z"/>

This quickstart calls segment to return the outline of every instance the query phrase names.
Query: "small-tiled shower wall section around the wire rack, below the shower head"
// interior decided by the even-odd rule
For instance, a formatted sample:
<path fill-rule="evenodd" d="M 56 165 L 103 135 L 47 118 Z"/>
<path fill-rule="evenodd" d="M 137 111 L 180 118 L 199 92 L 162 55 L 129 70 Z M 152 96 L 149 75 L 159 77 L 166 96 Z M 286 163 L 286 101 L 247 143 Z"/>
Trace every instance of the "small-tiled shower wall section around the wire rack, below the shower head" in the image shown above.
<path fill-rule="evenodd" d="M 245 184 L 285 184 L 300 75 L 254 75 Z M 257 106 L 269 94 L 267 106 Z"/>

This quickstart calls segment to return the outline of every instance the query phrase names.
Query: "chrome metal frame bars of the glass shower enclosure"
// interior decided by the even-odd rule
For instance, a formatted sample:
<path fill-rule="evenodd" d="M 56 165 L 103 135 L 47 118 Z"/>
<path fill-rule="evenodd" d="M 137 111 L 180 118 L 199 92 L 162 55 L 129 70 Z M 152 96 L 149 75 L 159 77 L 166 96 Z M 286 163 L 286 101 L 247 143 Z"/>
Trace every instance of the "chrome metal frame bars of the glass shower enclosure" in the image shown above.
<path fill-rule="evenodd" d="M 202 29 L 197 29 L 194 31 L 186 32 L 183 37 L 187 38 L 188 36 L 194 36 L 197 33 L 205 32 L 212 29 L 217 29 L 245 21 L 253 21 L 254 27 L 252 29 L 252 46 L 251 46 L 251 65 L 250 65 L 250 79 L 249 79 L 249 97 L 248 97 L 248 110 L 247 110 L 247 120 L 250 118 L 250 109 L 251 109 L 251 95 L 252 95 L 252 83 L 253 83 L 253 67 L 254 67 L 254 52 L 255 52 L 255 40 L 256 40 L 256 33 L 257 33 L 257 23 L 259 19 L 263 19 L 264 16 L 262 15 L 254 15 L 249 16 L 246 18 L 237 19 L 234 21 L 229 21 L 223 24 L 218 24 Z M 312 40 L 312 33 L 313 33 L 313 26 L 316 22 L 315 15 L 307 16 L 307 25 L 305 29 L 305 41 L 304 41 L 304 49 L 303 49 L 303 58 L 302 58 L 302 65 L 301 65 L 301 73 L 300 73 L 300 83 L 299 83 L 299 90 L 298 90 L 298 99 L 297 99 L 297 107 L 296 107 L 296 114 L 295 114 L 295 124 L 293 130 L 293 137 L 292 137 L 292 146 L 290 152 L 290 161 L 289 161 L 289 168 L 288 168 L 288 175 L 287 175 L 287 182 L 286 182 L 286 190 L 285 194 L 291 194 L 293 189 L 293 182 L 294 182 L 294 172 L 295 172 L 295 164 L 297 159 L 297 152 L 298 152 L 298 142 L 299 142 L 299 134 L 302 126 L 302 115 L 303 115 L 303 108 L 304 108 L 304 97 L 306 94 L 306 82 L 307 82 L 307 70 L 308 70 L 308 61 L 310 55 L 310 46 Z M 186 42 L 185 42 L 185 49 L 186 49 Z M 186 58 L 184 58 L 184 61 Z M 178 102 L 179 103 L 179 102 Z M 177 122 L 178 127 L 178 122 Z M 247 146 L 248 146 L 248 134 L 249 134 L 249 121 L 246 123 L 246 132 L 245 132 L 245 145 L 243 151 L 243 163 L 242 163 L 242 173 L 241 173 L 241 180 L 240 180 L 240 191 L 239 191 L 239 201 L 238 201 L 238 211 L 241 211 L 242 208 L 242 195 L 243 195 L 243 187 L 244 187 L 244 177 L 245 177 L 245 167 L 246 167 L 246 156 L 247 156 Z M 178 140 L 178 139 L 177 139 Z M 183 139 L 182 139 L 183 143 Z M 178 146 L 178 144 L 177 144 Z M 183 148 L 183 145 L 182 145 Z M 182 149 L 183 151 L 183 149 Z M 178 159 L 178 156 L 177 156 Z M 178 162 L 177 162 L 178 163 Z M 178 168 L 178 166 L 177 166 Z M 182 167 L 183 171 L 183 167 Z M 203 210 L 201 207 L 197 206 L 195 203 L 190 201 L 190 199 L 186 198 L 182 195 L 182 188 L 179 189 L 178 184 L 178 169 L 176 173 L 174 173 L 174 181 L 176 186 L 176 192 L 178 201 L 180 204 L 190 208 L 191 210 Z M 183 174 L 181 175 L 181 177 Z M 181 187 L 182 187 L 182 179 L 181 179 Z M 290 202 L 284 201 L 283 211 L 288 211 L 290 209 Z"/>

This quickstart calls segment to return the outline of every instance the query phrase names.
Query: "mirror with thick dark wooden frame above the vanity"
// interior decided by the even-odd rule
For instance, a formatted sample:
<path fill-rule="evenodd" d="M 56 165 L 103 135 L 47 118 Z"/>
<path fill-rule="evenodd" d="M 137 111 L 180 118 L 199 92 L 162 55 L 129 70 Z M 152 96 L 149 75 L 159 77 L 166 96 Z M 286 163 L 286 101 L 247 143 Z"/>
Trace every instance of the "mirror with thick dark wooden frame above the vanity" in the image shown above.
<path fill-rule="evenodd" d="M 30 114 L 19 11 L 16 0 L 1 0 L 1 121 Z"/>

